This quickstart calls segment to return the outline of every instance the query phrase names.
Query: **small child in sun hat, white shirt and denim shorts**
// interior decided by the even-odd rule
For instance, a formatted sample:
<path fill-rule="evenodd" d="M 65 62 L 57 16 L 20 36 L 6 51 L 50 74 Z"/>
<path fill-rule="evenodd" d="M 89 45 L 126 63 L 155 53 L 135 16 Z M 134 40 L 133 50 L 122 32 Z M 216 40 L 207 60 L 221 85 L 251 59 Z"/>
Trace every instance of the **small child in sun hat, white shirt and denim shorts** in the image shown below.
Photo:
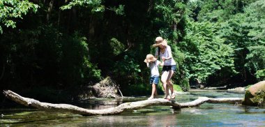
<path fill-rule="evenodd" d="M 155 57 L 153 57 L 153 54 L 147 54 L 144 62 L 146 63 L 147 67 L 151 69 L 150 84 L 152 85 L 152 94 L 150 98 L 148 98 L 148 100 L 151 100 L 154 98 L 154 96 L 158 96 L 158 92 L 156 91 L 156 86 L 159 82 L 158 66 L 163 66 L 164 62 L 162 61 L 161 63 L 158 61 Z"/>

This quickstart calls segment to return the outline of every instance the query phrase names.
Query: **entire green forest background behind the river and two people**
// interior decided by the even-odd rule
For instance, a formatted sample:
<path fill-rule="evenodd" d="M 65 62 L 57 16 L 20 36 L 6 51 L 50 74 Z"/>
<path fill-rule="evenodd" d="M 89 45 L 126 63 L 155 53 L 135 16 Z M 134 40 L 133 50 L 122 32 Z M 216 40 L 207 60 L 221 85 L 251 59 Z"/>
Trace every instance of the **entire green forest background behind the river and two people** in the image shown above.
<path fill-rule="evenodd" d="M 141 95 L 156 36 L 185 89 L 265 79 L 264 0 L 0 0 L 0 15 L 0 89 L 38 100 L 78 99 L 107 76 Z"/>

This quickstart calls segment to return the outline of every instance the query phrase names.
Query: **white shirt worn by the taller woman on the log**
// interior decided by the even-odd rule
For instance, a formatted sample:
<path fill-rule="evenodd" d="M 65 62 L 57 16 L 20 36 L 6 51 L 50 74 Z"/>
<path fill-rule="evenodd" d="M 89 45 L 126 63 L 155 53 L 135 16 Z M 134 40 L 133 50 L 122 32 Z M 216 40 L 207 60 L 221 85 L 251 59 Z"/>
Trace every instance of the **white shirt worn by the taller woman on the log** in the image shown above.
<path fill-rule="evenodd" d="M 156 49 L 156 56 L 158 56 L 158 48 Z M 160 52 L 160 59 L 162 59 L 162 57 L 168 58 L 171 56 L 171 59 L 167 59 L 164 61 L 164 66 L 173 66 L 176 65 L 176 61 L 174 61 L 173 57 L 172 57 L 172 51 L 171 51 L 171 47 L 169 45 L 167 45 L 164 54 L 162 54 L 162 52 Z"/>

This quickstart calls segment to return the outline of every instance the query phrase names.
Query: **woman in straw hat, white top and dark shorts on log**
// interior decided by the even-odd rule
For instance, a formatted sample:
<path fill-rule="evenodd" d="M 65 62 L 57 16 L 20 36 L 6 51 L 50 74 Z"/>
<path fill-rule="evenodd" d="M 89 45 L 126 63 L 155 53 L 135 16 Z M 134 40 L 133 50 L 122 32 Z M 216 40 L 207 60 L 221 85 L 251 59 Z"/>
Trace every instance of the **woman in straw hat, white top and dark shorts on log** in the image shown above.
<path fill-rule="evenodd" d="M 174 71 L 176 70 L 176 62 L 172 57 L 171 47 L 167 45 L 167 40 L 164 40 L 162 37 L 156 38 L 156 44 L 154 47 L 158 47 L 156 50 L 155 57 L 162 59 L 164 61 L 164 66 L 162 68 L 161 82 L 163 84 L 163 88 L 165 90 L 165 99 L 175 98 L 173 83 L 171 82 L 171 78 L 174 75 Z M 172 96 L 169 96 L 169 89 L 172 93 Z"/>

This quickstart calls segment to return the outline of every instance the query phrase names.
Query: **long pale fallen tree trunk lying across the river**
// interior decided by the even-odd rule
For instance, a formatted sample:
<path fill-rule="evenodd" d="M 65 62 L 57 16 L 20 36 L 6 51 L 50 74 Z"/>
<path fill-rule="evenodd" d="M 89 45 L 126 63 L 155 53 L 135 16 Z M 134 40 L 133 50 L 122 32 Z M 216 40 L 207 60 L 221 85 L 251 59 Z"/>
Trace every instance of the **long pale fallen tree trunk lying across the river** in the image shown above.
<path fill-rule="evenodd" d="M 33 98 L 24 98 L 13 91 L 3 91 L 3 94 L 10 100 L 20 103 L 25 106 L 36 107 L 43 110 L 60 110 L 63 112 L 73 112 L 75 114 L 82 114 L 84 116 L 89 115 L 108 115 L 108 114 L 120 114 L 122 112 L 136 110 L 142 107 L 147 107 L 151 105 L 167 105 L 172 106 L 174 109 L 181 109 L 183 107 L 195 107 L 202 103 L 242 103 L 243 98 L 207 98 L 199 97 L 197 100 L 193 100 L 188 103 L 177 103 L 174 100 L 166 100 L 162 98 L 156 98 L 152 100 L 142 100 L 131 103 L 123 103 L 116 107 L 110 107 L 103 110 L 87 110 L 82 107 L 77 107 L 75 105 L 68 104 L 52 104 L 52 103 L 42 103 Z"/>

